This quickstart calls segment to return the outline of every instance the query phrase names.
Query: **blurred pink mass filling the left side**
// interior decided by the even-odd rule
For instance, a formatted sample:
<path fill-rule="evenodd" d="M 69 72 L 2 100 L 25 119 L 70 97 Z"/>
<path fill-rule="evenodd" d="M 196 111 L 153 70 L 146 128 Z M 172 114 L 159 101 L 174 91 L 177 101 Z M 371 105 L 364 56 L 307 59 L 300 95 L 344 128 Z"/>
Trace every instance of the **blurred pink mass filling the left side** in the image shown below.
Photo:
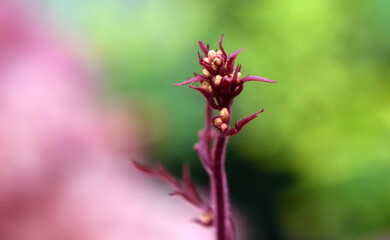
<path fill-rule="evenodd" d="M 207 240 L 141 158 L 135 116 L 103 107 L 77 59 L 0 3 L 0 239 Z M 88 80 L 87 80 L 88 79 Z"/>

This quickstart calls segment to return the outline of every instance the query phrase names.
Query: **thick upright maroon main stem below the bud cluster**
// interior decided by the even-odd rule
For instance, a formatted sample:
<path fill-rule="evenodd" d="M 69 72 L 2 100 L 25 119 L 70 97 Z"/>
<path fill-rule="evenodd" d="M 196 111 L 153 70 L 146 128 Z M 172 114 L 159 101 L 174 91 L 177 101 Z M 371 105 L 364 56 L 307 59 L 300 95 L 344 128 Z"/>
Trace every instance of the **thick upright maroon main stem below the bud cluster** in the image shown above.
<path fill-rule="evenodd" d="M 231 113 L 230 107 L 228 108 Z M 233 240 L 228 182 L 225 170 L 229 137 L 217 133 L 212 153 L 211 196 L 213 200 L 217 240 Z"/>

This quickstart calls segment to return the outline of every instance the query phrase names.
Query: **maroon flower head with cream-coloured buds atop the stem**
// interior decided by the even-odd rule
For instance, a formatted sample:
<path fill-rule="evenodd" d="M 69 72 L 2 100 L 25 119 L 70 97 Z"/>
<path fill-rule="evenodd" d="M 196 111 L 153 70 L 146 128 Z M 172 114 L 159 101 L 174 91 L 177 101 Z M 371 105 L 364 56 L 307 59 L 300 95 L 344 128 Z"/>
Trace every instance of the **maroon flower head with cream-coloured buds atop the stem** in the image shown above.
<path fill-rule="evenodd" d="M 275 81 L 258 76 L 241 77 L 241 65 L 235 66 L 235 60 L 238 54 L 243 50 L 239 49 L 231 54 L 226 54 L 223 46 L 224 36 L 219 40 L 219 49 L 210 49 L 199 41 L 199 46 L 203 55 L 198 53 L 199 64 L 203 67 L 202 74 L 195 73 L 195 77 L 185 82 L 175 84 L 181 86 L 190 83 L 200 82 L 200 86 L 190 86 L 199 91 L 207 100 L 208 105 L 219 110 L 219 115 L 214 117 L 212 124 L 221 132 L 229 129 L 230 115 L 229 109 L 233 99 L 239 95 L 244 83 L 248 81 L 261 81 L 274 83 Z M 234 132 L 234 130 L 232 130 Z"/>

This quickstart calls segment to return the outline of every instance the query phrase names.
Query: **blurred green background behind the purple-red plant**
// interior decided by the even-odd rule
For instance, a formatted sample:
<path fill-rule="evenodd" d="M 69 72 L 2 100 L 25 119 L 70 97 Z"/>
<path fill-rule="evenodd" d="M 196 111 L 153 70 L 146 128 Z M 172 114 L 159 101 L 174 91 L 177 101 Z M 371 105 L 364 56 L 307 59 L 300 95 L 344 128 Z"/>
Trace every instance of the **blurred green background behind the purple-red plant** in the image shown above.
<path fill-rule="evenodd" d="M 172 84 L 199 72 L 198 40 L 246 47 L 231 139 L 234 205 L 250 239 L 380 239 L 390 234 L 390 1 L 49 0 L 42 7 L 100 57 L 109 98 L 135 103 L 150 160 L 189 162 L 204 101 Z"/>

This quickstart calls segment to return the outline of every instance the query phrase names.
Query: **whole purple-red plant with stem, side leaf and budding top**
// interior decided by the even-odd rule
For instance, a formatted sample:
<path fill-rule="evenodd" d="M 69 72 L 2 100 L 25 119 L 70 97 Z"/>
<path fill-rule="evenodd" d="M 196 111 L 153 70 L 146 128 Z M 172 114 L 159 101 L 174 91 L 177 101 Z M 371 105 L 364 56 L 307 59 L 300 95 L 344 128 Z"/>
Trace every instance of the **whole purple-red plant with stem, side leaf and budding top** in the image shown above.
<path fill-rule="evenodd" d="M 233 100 L 242 92 L 245 82 L 275 81 L 258 76 L 241 77 L 241 65 L 235 66 L 235 60 L 243 49 L 227 54 L 222 46 L 223 38 L 224 35 L 219 40 L 217 50 L 210 49 L 209 45 L 206 46 L 199 41 L 203 52 L 203 55 L 198 52 L 199 64 L 203 67 L 202 74 L 195 73 L 195 77 L 175 84 L 181 86 L 199 82 L 199 86 L 189 87 L 199 91 L 206 98 L 205 126 L 199 132 L 199 142 L 194 148 L 210 178 L 211 203 L 207 203 L 198 194 L 188 167 L 184 167 L 183 181 L 179 182 L 162 165 L 154 169 L 140 163 L 135 165 L 143 172 L 159 176 L 169 182 L 175 189 L 171 195 L 180 195 L 200 208 L 203 213 L 196 221 L 205 226 L 215 227 L 217 240 L 233 240 L 234 228 L 225 171 L 226 147 L 229 136 L 239 133 L 246 124 L 263 112 L 263 110 L 256 112 L 231 126 Z M 216 116 L 213 116 L 213 110 L 218 111 Z"/>

